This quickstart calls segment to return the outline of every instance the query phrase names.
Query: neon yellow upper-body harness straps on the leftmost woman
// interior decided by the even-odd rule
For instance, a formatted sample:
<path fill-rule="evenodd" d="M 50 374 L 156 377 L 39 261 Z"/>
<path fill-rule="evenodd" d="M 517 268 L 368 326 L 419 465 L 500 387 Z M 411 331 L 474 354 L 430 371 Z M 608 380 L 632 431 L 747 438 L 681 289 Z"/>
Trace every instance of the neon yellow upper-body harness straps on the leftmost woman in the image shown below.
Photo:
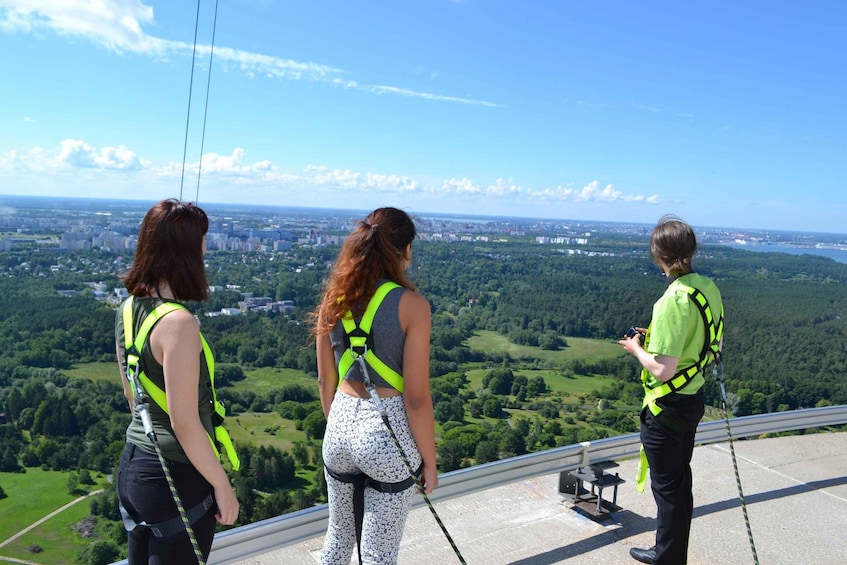
<path fill-rule="evenodd" d="M 147 336 L 150 334 L 153 326 L 156 325 L 156 322 L 175 310 L 186 310 L 187 308 L 176 302 L 165 302 L 160 304 L 154 308 L 146 318 L 144 318 L 144 321 L 141 323 L 141 328 L 138 330 L 138 335 L 136 335 L 135 339 L 133 339 L 134 324 L 132 321 L 132 302 L 133 297 L 130 296 L 129 299 L 124 302 L 122 313 L 124 325 L 124 349 L 126 355 L 124 367 L 126 370 L 130 370 L 132 368 L 136 371 L 138 383 L 142 388 L 141 391 L 136 391 L 133 381 L 130 380 L 130 386 L 133 387 L 132 393 L 133 396 L 135 396 L 138 392 L 141 392 L 143 395 L 152 400 L 162 412 L 168 414 L 167 394 L 144 373 L 144 369 L 141 367 L 141 350 L 144 348 Z M 212 391 L 212 406 L 214 408 L 212 424 L 215 437 L 212 438 L 212 436 L 208 433 L 206 435 L 208 436 L 212 450 L 215 452 L 218 459 L 221 457 L 220 449 L 218 448 L 218 445 L 220 445 L 226 453 L 227 459 L 229 459 L 232 468 L 235 471 L 238 471 L 241 467 L 241 461 L 238 459 L 235 446 L 232 445 L 232 438 L 230 438 L 229 432 L 227 432 L 226 428 L 223 426 L 226 409 L 223 404 L 218 401 L 217 394 L 215 393 L 215 356 L 212 354 L 212 348 L 209 347 L 209 343 L 206 341 L 206 338 L 203 337 L 202 332 L 200 333 L 200 342 L 203 344 L 203 356 L 206 359 L 206 366 L 209 369 L 209 388 Z"/>

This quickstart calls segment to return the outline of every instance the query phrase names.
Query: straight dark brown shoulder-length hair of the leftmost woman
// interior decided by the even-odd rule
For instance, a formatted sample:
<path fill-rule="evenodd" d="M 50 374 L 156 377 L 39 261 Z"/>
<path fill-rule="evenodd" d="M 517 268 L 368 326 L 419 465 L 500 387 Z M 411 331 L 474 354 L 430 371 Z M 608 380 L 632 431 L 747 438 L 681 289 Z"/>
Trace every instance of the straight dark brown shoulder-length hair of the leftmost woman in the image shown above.
<path fill-rule="evenodd" d="M 203 236 L 209 218 L 190 202 L 169 198 L 154 205 L 138 230 L 132 267 L 123 277 L 133 296 L 158 296 L 168 283 L 177 300 L 206 300 L 209 285 L 203 263 Z"/>

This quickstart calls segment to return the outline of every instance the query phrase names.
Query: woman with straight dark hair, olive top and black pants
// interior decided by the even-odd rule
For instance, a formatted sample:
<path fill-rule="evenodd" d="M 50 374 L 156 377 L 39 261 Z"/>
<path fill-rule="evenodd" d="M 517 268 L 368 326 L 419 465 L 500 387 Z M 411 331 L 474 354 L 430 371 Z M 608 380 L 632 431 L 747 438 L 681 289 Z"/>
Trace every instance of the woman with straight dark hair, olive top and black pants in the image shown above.
<path fill-rule="evenodd" d="M 208 228 L 206 213 L 193 204 L 157 203 L 141 223 L 135 259 L 123 277 L 130 298 L 118 309 L 115 340 L 133 418 L 117 491 L 129 530 L 130 564 L 191 563 L 200 561 L 199 554 L 205 561 L 215 521 L 228 525 L 238 518 L 238 501 L 216 443 L 210 441 L 220 424 L 210 382 L 214 359 L 183 304 L 208 298 L 203 263 Z M 146 338 L 139 337 L 144 332 Z M 138 406 L 137 398 L 143 398 Z M 146 429 L 145 412 L 150 418 Z M 194 540 L 182 523 L 177 499 L 189 516 Z"/>

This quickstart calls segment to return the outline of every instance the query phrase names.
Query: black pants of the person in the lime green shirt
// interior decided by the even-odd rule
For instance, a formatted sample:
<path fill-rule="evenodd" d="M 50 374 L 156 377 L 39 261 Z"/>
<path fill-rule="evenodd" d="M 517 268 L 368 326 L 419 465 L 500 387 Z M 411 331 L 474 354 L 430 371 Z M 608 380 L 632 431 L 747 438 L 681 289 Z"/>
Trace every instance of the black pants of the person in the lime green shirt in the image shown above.
<path fill-rule="evenodd" d="M 653 416 L 641 411 L 641 444 L 650 464 L 650 487 L 656 499 L 656 560 L 659 565 L 684 565 L 694 513 L 691 455 L 694 435 L 703 417 L 703 394 L 670 395 L 659 400 L 663 410 Z"/>

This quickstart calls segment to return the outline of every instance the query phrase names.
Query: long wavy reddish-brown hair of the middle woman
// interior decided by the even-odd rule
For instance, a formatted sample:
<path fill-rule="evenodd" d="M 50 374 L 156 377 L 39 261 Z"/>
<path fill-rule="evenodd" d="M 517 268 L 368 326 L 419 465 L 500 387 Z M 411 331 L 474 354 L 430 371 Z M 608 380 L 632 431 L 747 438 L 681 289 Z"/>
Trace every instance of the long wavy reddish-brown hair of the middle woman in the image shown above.
<path fill-rule="evenodd" d="M 406 248 L 415 223 L 397 208 L 378 208 L 358 222 L 341 246 L 323 300 L 312 314 L 314 333 L 328 333 L 347 311 L 361 316 L 381 277 L 414 290 L 406 277 Z"/>

